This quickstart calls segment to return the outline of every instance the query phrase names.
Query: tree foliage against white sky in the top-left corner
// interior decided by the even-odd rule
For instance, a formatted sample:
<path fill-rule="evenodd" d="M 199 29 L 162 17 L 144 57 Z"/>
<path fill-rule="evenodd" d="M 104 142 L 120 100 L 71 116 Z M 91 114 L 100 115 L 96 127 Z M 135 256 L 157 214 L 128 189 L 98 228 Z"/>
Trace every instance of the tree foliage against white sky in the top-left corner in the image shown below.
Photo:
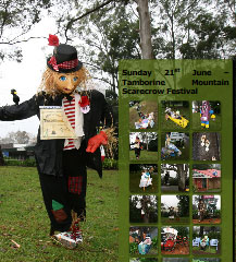
<path fill-rule="evenodd" d="M 0 2 L 0 60 L 22 60 L 21 48 L 14 45 L 26 41 L 24 36 L 41 20 L 41 12 L 51 7 L 50 0 L 3 0 Z M 7 46 L 14 46 L 7 48 Z"/>

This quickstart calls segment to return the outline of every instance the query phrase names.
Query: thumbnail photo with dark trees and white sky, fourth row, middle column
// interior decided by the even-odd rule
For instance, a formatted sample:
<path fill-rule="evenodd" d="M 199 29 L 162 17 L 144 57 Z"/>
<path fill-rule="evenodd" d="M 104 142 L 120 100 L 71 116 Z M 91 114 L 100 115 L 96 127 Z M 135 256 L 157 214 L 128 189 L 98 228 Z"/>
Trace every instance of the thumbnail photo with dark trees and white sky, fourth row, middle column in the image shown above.
<path fill-rule="evenodd" d="M 188 223 L 189 196 L 188 195 L 161 195 L 162 223 Z"/>

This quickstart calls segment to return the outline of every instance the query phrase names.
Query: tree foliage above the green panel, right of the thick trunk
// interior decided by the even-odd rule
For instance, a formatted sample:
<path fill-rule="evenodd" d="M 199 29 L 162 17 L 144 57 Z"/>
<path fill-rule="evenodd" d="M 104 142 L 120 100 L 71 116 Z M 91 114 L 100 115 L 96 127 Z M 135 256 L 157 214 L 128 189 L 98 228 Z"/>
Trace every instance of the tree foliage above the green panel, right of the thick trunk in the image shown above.
<path fill-rule="evenodd" d="M 153 7 L 153 15 L 160 14 L 159 34 L 153 40 L 157 58 L 214 59 L 234 55 L 235 15 L 225 1 L 160 0 Z"/>

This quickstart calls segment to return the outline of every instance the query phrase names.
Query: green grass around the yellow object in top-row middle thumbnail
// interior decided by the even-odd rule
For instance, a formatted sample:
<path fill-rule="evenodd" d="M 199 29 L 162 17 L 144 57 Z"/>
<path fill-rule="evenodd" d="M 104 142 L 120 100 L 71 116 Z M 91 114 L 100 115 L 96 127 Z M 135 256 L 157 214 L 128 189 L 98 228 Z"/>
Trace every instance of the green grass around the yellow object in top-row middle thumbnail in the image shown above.
<path fill-rule="evenodd" d="M 164 110 L 165 110 L 165 108 L 161 109 L 161 127 L 162 127 L 162 129 L 166 129 L 166 130 L 186 130 L 186 129 L 189 128 L 189 122 L 188 122 L 188 126 L 184 129 L 181 126 L 178 126 L 177 123 L 173 122 L 171 119 L 165 120 L 165 112 L 164 112 Z M 176 109 L 174 109 L 174 111 L 176 111 L 176 110 L 178 110 L 181 112 L 182 117 L 184 117 L 188 121 L 190 120 L 189 108 L 176 107 Z"/>

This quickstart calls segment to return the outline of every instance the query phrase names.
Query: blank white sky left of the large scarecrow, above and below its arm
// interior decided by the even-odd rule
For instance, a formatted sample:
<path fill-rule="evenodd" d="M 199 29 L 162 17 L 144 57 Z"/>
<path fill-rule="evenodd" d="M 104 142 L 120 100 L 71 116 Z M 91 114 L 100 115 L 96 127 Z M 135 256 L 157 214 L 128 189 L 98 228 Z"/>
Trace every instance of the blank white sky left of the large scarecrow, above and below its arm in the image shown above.
<path fill-rule="evenodd" d="M 53 34 L 57 26 L 53 19 L 44 19 L 30 32 L 30 36 L 45 36 Z M 40 79 L 46 69 L 46 57 L 52 53 L 53 47 L 48 46 L 47 39 L 32 39 L 20 45 L 23 49 L 23 61 L 3 61 L 0 63 L 0 106 L 13 105 L 11 90 L 15 88 L 21 103 L 36 94 Z M 37 117 L 26 120 L 2 122 L 0 121 L 0 138 L 11 131 L 27 131 L 37 134 L 39 121 Z"/>

